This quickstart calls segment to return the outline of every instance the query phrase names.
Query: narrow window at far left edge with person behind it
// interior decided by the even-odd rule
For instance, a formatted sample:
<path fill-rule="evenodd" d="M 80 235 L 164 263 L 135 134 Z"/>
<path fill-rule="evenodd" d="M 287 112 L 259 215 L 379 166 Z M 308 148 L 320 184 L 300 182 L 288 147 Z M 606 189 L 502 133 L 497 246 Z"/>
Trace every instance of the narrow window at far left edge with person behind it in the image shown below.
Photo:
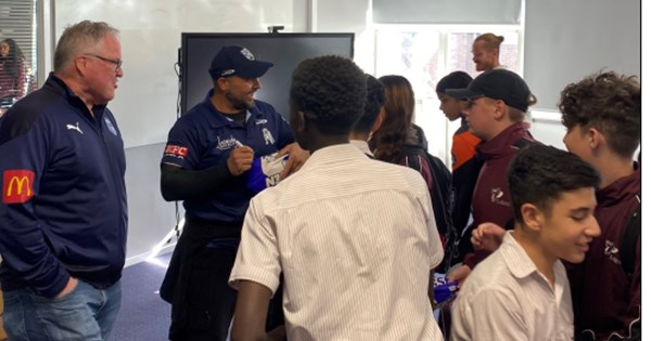
<path fill-rule="evenodd" d="M 0 3 L 0 114 L 38 88 L 36 1 Z M 17 51 L 21 53 L 14 58 Z"/>

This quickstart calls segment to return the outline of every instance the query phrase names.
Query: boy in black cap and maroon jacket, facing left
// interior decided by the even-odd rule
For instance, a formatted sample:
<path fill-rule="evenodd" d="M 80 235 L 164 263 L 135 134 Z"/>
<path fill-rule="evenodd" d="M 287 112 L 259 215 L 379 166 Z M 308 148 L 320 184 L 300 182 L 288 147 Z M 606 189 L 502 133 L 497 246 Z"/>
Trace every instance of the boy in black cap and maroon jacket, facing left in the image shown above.
<path fill-rule="evenodd" d="M 482 142 L 477 157 L 484 161 L 472 197 L 472 223 L 494 223 L 513 228 L 513 210 L 507 182 L 507 168 L 521 147 L 535 143 L 524 126 L 524 114 L 536 103 L 526 82 L 507 69 L 487 70 L 465 89 L 448 89 L 448 96 L 465 100 L 463 115 L 470 131 Z M 463 265 L 449 272 L 449 280 L 463 280 L 487 251 L 469 253 Z"/>

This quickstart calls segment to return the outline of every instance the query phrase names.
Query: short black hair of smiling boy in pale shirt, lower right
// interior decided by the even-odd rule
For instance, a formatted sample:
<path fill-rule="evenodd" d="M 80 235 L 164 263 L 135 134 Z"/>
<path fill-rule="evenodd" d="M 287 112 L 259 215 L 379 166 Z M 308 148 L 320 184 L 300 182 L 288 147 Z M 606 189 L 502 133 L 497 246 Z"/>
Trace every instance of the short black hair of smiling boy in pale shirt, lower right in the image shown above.
<path fill-rule="evenodd" d="M 522 205 L 533 204 L 550 213 L 553 201 L 565 192 L 597 188 L 601 175 L 578 156 L 546 146 L 531 144 L 521 149 L 509 165 L 509 191 L 515 221 L 523 222 Z"/>

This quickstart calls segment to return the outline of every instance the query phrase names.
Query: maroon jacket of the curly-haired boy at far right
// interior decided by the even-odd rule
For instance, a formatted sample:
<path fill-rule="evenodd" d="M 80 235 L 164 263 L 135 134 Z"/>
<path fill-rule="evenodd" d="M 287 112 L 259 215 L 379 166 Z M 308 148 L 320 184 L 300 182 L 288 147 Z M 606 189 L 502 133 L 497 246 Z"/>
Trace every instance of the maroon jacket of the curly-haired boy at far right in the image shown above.
<path fill-rule="evenodd" d="M 601 235 L 590 242 L 586 259 L 569 266 L 576 306 L 576 328 L 595 340 L 622 340 L 639 323 L 641 307 L 641 240 L 636 250 L 623 250 L 626 222 L 640 205 L 641 171 L 624 176 L 596 193 L 595 218 Z M 622 267 L 622 253 L 635 252 L 630 278 Z"/>

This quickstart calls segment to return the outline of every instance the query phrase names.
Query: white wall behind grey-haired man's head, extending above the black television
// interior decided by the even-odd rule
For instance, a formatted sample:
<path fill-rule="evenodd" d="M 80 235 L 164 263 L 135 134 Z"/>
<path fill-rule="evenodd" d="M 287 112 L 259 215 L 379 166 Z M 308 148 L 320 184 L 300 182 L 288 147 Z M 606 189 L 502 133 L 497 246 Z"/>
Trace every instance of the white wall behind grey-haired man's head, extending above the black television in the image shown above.
<path fill-rule="evenodd" d="M 132 147 L 166 141 L 176 120 L 181 32 L 266 32 L 271 25 L 292 29 L 292 0 L 60 0 L 54 34 L 85 18 L 120 30 L 125 76 L 110 107 L 125 145 Z"/>

